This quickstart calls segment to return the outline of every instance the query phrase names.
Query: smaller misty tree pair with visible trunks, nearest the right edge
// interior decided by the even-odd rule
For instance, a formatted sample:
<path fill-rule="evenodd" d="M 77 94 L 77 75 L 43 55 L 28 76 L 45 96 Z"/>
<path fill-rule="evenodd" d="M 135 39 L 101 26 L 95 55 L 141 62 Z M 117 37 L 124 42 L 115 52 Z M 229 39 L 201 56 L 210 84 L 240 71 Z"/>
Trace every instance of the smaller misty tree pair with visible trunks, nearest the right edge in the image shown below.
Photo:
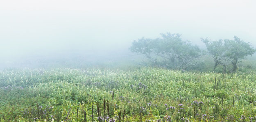
<path fill-rule="evenodd" d="M 231 62 L 231 72 L 236 72 L 238 69 L 238 61 L 245 59 L 247 55 L 252 55 L 256 50 L 252 48 L 249 43 L 241 40 L 238 37 L 234 37 L 234 40 L 224 39 L 219 41 L 209 41 L 208 39 L 202 39 L 205 43 L 207 51 L 212 55 L 214 59 L 213 72 L 217 65 L 221 64 L 223 72 L 226 72 L 228 62 Z"/>

